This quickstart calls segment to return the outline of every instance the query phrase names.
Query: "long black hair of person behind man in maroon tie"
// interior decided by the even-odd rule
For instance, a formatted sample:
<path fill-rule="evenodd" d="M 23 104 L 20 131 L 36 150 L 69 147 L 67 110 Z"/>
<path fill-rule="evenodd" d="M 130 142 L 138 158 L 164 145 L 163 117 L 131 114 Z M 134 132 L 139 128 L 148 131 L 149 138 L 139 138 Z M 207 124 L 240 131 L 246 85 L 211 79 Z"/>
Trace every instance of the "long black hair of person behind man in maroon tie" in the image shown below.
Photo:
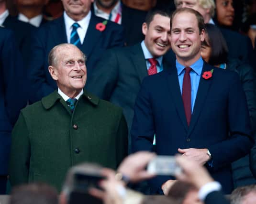
<path fill-rule="evenodd" d="M 211 55 L 209 58 L 209 64 L 217 65 L 227 62 L 228 58 L 228 46 L 217 26 L 206 23 L 206 38 L 209 41 L 211 47 Z"/>

